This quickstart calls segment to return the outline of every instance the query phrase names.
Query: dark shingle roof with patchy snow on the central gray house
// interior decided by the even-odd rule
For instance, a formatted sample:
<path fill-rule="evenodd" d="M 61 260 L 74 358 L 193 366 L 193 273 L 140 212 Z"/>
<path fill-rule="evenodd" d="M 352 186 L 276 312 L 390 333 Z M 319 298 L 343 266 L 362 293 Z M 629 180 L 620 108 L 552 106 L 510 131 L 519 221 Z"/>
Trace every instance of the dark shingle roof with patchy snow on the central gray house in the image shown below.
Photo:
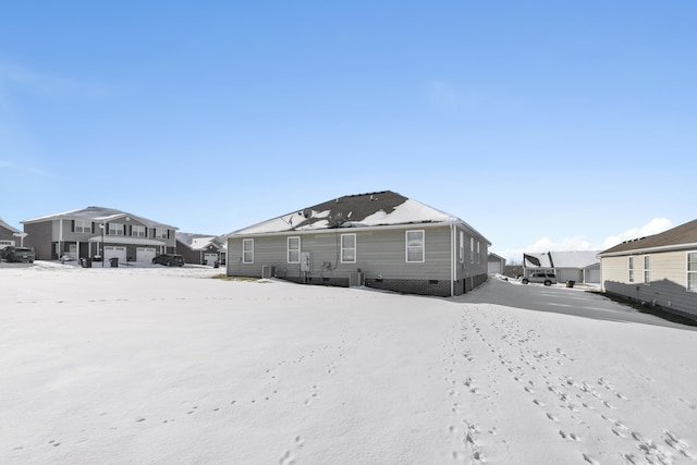
<path fill-rule="evenodd" d="M 234 231 L 229 235 L 425 223 L 465 224 L 476 232 L 453 215 L 395 192 L 382 191 L 339 197 Z M 478 232 L 477 234 L 481 236 Z"/>

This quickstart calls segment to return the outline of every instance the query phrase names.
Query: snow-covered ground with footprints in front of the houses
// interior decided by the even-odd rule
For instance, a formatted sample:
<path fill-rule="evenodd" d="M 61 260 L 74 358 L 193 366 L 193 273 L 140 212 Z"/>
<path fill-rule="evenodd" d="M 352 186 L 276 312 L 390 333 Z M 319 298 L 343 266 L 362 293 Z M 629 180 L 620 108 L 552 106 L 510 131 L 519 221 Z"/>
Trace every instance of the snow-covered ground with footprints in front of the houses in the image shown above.
<path fill-rule="evenodd" d="M 576 289 L 443 299 L 219 272 L 0 269 L 0 463 L 697 460 L 694 328 Z"/>

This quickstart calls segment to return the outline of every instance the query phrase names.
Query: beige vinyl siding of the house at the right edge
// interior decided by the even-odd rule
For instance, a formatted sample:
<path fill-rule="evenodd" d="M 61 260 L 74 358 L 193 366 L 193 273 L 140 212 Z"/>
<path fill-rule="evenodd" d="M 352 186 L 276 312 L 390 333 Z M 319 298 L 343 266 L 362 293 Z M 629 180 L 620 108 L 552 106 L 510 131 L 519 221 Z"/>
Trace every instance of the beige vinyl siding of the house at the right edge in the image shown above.
<path fill-rule="evenodd" d="M 634 282 L 629 282 L 628 255 L 601 259 L 602 287 L 606 292 L 636 299 L 668 311 L 697 317 L 697 293 L 687 291 L 687 252 L 637 254 Z M 650 256 L 649 284 L 644 283 L 644 257 Z"/>

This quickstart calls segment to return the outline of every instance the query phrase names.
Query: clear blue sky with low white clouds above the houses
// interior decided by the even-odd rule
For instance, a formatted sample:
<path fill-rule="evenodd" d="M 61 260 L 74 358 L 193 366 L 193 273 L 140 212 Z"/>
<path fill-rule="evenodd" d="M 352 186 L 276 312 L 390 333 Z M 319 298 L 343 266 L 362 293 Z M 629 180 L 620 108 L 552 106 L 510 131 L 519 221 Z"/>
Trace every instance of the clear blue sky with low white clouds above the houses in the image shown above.
<path fill-rule="evenodd" d="M 391 189 L 522 253 L 697 217 L 697 2 L 25 1 L 0 217 L 223 234 Z"/>

